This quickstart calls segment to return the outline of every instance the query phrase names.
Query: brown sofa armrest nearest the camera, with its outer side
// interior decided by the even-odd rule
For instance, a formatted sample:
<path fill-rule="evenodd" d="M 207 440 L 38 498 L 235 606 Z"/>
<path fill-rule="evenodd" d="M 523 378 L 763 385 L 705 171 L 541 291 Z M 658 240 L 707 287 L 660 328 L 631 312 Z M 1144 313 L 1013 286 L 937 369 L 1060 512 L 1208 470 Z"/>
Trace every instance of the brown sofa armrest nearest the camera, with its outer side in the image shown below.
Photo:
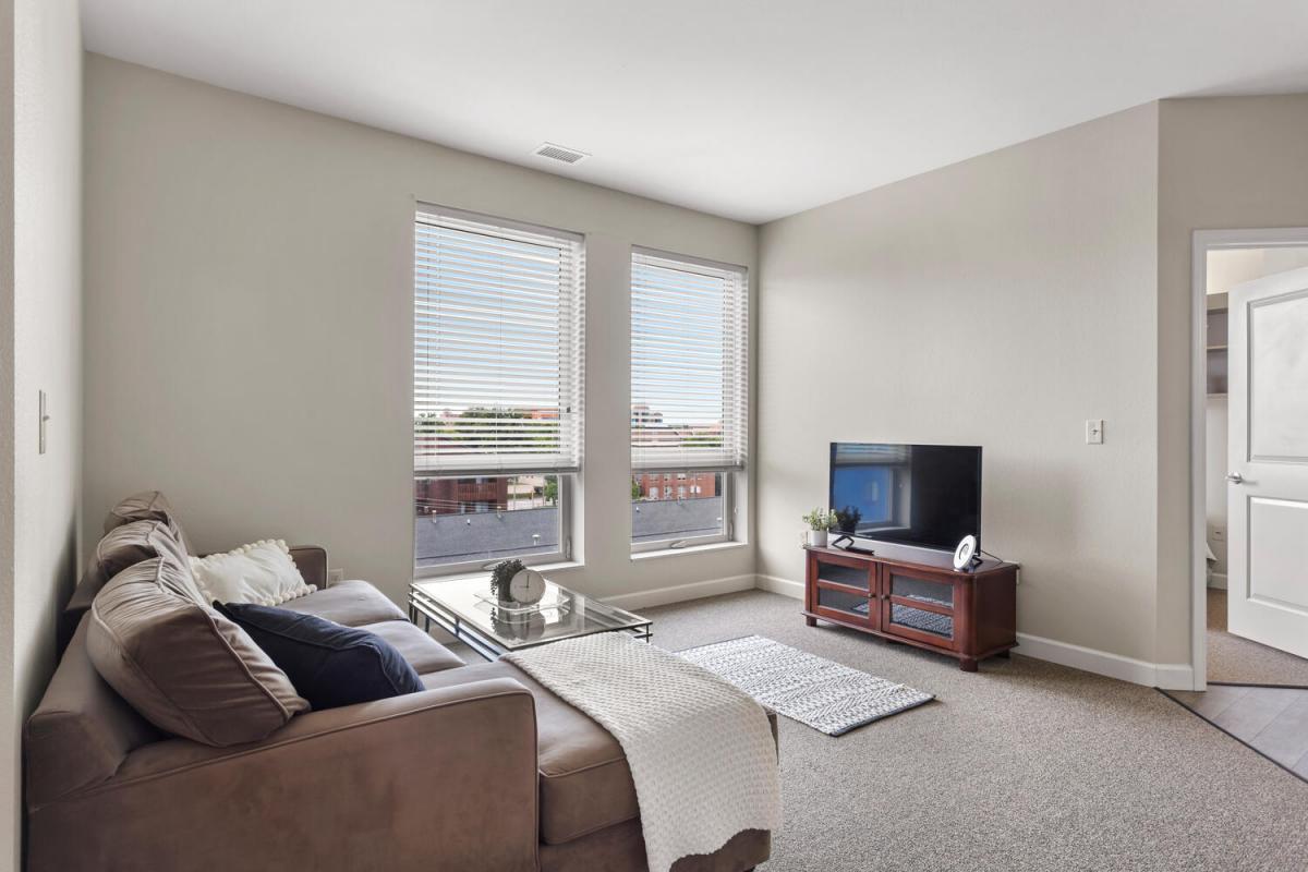
<path fill-rule="evenodd" d="M 27 868 L 534 872 L 536 796 L 531 693 L 492 679 L 139 748 L 30 809 Z"/>

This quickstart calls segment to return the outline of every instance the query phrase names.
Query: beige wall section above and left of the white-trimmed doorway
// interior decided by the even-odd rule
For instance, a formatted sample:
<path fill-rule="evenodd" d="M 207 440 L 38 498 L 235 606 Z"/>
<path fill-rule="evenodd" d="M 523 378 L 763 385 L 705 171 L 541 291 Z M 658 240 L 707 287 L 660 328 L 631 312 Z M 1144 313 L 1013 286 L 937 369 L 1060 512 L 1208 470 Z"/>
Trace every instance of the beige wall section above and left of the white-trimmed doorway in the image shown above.
<path fill-rule="evenodd" d="M 1158 226 L 1158 656 L 1190 659 L 1190 241 L 1308 226 L 1308 95 L 1163 101 Z"/>

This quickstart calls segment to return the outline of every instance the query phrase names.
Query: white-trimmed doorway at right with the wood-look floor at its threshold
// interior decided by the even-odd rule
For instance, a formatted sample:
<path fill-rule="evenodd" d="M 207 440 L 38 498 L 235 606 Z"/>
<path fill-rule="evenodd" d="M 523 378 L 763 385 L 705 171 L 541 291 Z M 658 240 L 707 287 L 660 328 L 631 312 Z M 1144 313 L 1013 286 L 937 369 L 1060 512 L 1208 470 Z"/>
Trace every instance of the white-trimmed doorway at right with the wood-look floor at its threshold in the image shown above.
<path fill-rule="evenodd" d="M 1271 456 L 1278 452 L 1269 454 L 1254 446 L 1267 409 L 1279 413 L 1282 422 L 1291 422 L 1295 444 L 1301 443 L 1301 428 L 1308 429 L 1308 405 L 1300 401 L 1303 390 L 1299 387 L 1304 382 L 1303 358 L 1287 366 L 1283 350 L 1273 349 L 1269 357 L 1262 357 L 1267 337 L 1277 333 L 1281 333 L 1281 348 L 1308 346 L 1308 314 L 1304 312 L 1308 229 L 1196 231 L 1192 276 L 1194 690 L 1163 693 L 1308 780 L 1308 658 L 1301 656 L 1305 648 L 1300 631 L 1308 617 L 1299 608 L 1303 588 L 1298 575 L 1303 527 L 1294 520 L 1283 524 L 1282 533 L 1288 531 L 1288 535 L 1273 536 L 1277 544 L 1270 553 L 1282 571 L 1271 575 L 1258 570 L 1253 560 L 1269 553 L 1267 537 L 1254 540 L 1249 535 L 1256 505 L 1271 506 L 1267 511 L 1278 512 L 1308 502 L 1308 497 L 1278 499 L 1277 494 L 1265 493 L 1286 471 L 1299 475 L 1295 471 L 1301 471 L 1303 464 L 1296 458 Z M 1301 340 L 1299 333 L 1303 333 Z M 1262 375 L 1252 379 L 1250 369 Z M 1269 380 L 1269 373 L 1273 377 L 1290 373 L 1283 384 L 1292 386 L 1291 390 L 1265 394 L 1266 386 L 1275 382 L 1274 378 Z M 1287 401 L 1286 397 L 1299 399 Z M 1288 454 L 1303 451 L 1296 448 Z M 1277 469 L 1265 465 L 1267 460 L 1294 461 L 1281 463 Z M 1245 477 L 1243 473 L 1253 475 Z M 1299 492 L 1308 488 L 1301 480 L 1295 486 Z M 1278 520 L 1273 515 L 1267 518 Z M 1266 527 L 1264 522 L 1260 519 L 1257 524 Z M 1291 579 L 1294 587 L 1288 599 L 1298 603 L 1271 603 L 1288 608 L 1281 608 L 1279 616 L 1266 614 L 1274 597 L 1257 590 L 1254 578 L 1279 579 L 1281 583 Z M 1236 597 L 1233 604 L 1232 597 Z M 1281 620 L 1281 626 L 1260 625 L 1269 617 L 1273 624 Z M 1228 622 L 1228 618 L 1232 620 Z M 1298 624 L 1287 625 L 1286 618 Z M 1286 648 L 1295 648 L 1295 652 Z"/>

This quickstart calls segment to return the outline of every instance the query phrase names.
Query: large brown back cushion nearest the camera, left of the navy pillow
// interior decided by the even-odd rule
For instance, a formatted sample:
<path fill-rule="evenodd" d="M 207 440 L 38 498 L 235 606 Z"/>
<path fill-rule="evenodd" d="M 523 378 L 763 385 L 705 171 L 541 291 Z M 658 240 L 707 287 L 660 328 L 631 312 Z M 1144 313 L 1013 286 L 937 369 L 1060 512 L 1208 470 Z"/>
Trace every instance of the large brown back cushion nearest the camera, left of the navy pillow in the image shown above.
<path fill-rule="evenodd" d="M 95 596 L 95 671 L 160 729 L 207 745 L 258 741 L 309 707 L 239 626 L 187 594 L 167 557 L 123 570 Z"/>

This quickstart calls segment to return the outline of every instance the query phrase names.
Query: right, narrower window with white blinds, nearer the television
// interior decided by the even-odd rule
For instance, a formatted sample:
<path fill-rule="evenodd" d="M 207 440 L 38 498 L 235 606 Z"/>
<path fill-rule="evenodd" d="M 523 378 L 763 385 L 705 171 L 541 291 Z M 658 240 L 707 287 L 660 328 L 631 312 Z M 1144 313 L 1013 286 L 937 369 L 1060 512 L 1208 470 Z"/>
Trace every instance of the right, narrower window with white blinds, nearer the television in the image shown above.
<path fill-rule="evenodd" d="M 633 550 L 735 537 L 748 335 L 744 269 L 633 251 Z"/>

